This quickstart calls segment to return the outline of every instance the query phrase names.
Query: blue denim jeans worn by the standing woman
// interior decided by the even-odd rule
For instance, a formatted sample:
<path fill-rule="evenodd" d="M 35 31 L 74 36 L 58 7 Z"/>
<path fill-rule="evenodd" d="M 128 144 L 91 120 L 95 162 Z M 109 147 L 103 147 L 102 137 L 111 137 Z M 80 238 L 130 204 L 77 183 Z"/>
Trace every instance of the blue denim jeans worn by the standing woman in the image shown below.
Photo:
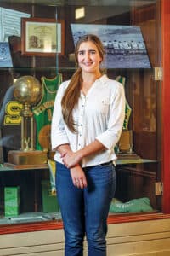
<path fill-rule="evenodd" d="M 78 189 L 70 170 L 56 163 L 56 189 L 65 230 L 65 256 L 82 256 L 83 240 L 88 256 L 105 256 L 107 217 L 116 190 L 115 167 L 99 165 L 83 168 L 88 187 Z"/>

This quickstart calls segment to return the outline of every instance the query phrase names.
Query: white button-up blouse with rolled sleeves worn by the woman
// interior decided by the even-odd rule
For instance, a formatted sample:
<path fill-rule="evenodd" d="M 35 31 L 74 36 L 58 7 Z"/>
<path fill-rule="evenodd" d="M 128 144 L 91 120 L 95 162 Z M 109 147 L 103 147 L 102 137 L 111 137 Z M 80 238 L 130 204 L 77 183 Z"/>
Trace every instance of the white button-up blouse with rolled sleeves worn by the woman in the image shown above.
<path fill-rule="evenodd" d="M 77 106 L 72 113 L 77 125 L 77 132 L 73 133 L 65 125 L 60 104 L 69 82 L 65 81 L 59 86 L 55 98 L 51 125 L 52 149 L 68 143 L 75 152 L 97 139 L 107 149 L 84 157 L 82 167 L 116 160 L 114 148 L 121 136 L 125 117 L 125 95 L 122 84 L 103 75 L 94 82 L 86 96 L 81 91 Z M 58 151 L 54 155 L 54 160 L 62 163 Z"/>

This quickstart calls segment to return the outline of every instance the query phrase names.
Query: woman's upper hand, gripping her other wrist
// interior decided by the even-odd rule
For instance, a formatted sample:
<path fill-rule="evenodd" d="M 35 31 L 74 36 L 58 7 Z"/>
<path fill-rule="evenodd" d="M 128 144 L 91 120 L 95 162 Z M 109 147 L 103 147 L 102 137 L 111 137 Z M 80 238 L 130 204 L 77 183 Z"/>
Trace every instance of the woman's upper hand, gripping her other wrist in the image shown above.
<path fill-rule="evenodd" d="M 71 168 L 79 164 L 82 160 L 81 154 L 77 152 L 66 152 L 65 154 L 61 154 L 61 158 L 63 160 L 64 165 L 67 168 Z"/>

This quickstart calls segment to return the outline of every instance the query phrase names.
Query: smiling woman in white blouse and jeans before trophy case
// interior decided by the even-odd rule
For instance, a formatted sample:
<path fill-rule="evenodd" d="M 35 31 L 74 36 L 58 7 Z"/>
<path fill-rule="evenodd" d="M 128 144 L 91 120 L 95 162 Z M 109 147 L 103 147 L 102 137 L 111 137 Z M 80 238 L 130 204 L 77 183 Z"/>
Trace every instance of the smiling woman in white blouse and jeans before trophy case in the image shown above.
<path fill-rule="evenodd" d="M 100 70 L 104 48 L 83 36 L 75 51 L 78 68 L 59 86 L 52 120 L 56 189 L 65 230 L 65 256 L 106 255 L 107 216 L 116 189 L 114 147 L 122 132 L 122 84 Z"/>

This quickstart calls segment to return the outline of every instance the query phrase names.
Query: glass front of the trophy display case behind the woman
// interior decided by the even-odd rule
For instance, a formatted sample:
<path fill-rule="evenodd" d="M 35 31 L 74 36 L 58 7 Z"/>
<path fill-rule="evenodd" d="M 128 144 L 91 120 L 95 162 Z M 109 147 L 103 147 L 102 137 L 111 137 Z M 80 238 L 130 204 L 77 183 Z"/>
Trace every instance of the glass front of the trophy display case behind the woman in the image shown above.
<path fill-rule="evenodd" d="M 110 214 L 161 211 L 161 195 L 156 195 L 161 190 L 159 1 L 32 2 L 0 3 L 0 224 L 61 219 L 50 124 L 61 78 L 70 79 L 76 70 L 77 38 L 87 32 L 102 39 L 105 73 L 124 85 L 127 98 L 122 137 L 115 148 L 117 189 Z M 13 94 L 14 81 L 21 79 L 18 84 L 25 87 L 28 75 L 43 88 L 42 100 L 29 110 Z"/>

